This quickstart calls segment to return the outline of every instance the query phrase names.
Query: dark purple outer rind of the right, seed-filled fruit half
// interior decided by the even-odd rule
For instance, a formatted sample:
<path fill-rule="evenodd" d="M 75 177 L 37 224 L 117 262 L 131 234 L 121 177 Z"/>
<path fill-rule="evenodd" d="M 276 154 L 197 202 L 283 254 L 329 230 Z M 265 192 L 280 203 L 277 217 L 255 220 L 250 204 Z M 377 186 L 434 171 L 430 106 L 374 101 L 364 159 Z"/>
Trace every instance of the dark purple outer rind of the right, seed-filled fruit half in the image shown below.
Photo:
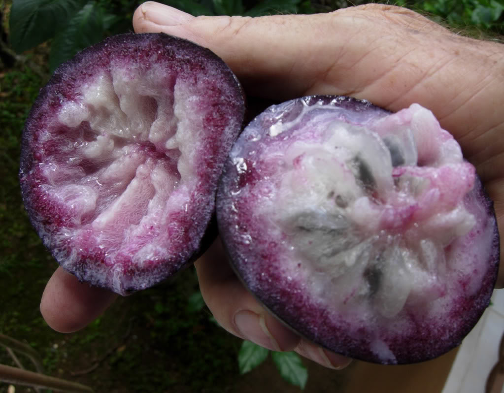
<path fill-rule="evenodd" d="M 309 96 L 302 99 L 307 105 L 334 102 L 335 106 L 346 109 L 345 121 L 353 124 L 365 124 L 371 118 L 390 113 L 367 101 L 348 97 Z M 447 295 L 450 300 L 444 313 L 426 318 L 421 307 L 405 307 L 399 317 L 407 321 L 406 331 L 394 332 L 391 329 L 389 332 L 388 328 L 373 325 L 372 320 L 361 320 L 359 326 L 354 326 L 352 321 L 332 317 L 334 314 L 331 314 L 327 306 L 321 305 L 307 293 L 304 282 L 283 274 L 278 256 L 278 253 L 282 252 L 279 241 L 281 239 L 269 237 L 264 223 L 258 221 L 257 213 L 254 212 L 254 205 L 256 200 L 261 198 L 262 190 L 246 193 L 241 199 L 236 197 L 245 188 L 252 187 L 270 173 L 267 166 L 261 166 L 254 161 L 255 154 L 250 153 L 252 158 L 245 159 L 246 169 L 241 171 L 236 162 L 233 162 L 233 158 L 245 157 L 247 152 L 261 151 L 264 147 L 281 143 L 279 141 L 283 138 L 287 139 L 283 134 L 270 136 L 267 130 L 274 123 L 271 121 L 272 117 L 284 121 L 296 117 L 296 113 L 292 112 L 297 109 L 292 103 L 298 100 L 290 101 L 290 105 L 284 103 L 272 106 L 256 117 L 240 135 L 226 162 L 217 191 L 217 222 L 233 269 L 256 298 L 289 328 L 336 353 L 374 363 L 406 364 L 432 359 L 456 347 L 488 306 L 499 263 L 499 235 L 493 203 L 479 179 L 476 177 L 474 191 L 468 193 L 464 201 L 466 207 L 470 211 L 477 211 L 481 219 L 474 230 L 456 240 L 457 244 L 451 245 L 453 249 L 458 250 L 459 255 L 472 253 L 471 244 L 478 233 L 486 229 L 487 233 L 491 234 L 492 249 L 488 260 L 478 265 L 480 269 L 486 269 L 486 272 L 482 273 L 482 282 L 476 292 L 467 296 L 465 288 L 470 279 L 459 277 L 452 283 L 457 290 L 456 293 Z M 280 251 L 277 251 L 279 249 Z M 298 266 L 302 263 L 303 261 L 299 260 Z M 454 277 L 452 276 L 452 279 Z M 393 325 L 395 322 L 391 323 Z M 393 353 L 392 357 L 381 357 L 371 349 L 370 338 L 374 337 L 376 332 L 380 333 L 380 337 Z"/>

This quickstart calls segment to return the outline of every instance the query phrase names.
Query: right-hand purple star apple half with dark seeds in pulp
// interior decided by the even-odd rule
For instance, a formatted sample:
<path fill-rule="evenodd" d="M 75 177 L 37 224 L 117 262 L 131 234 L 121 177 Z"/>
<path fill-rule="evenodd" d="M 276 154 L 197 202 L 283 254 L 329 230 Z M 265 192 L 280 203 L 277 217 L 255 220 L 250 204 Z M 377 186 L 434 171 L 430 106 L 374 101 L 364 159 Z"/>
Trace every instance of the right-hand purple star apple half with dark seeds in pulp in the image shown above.
<path fill-rule="evenodd" d="M 489 304 L 499 258 L 475 168 L 418 104 L 309 96 L 234 144 L 217 222 L 246 287 L 300 335 L 384 364 L 457 346 Z"/>

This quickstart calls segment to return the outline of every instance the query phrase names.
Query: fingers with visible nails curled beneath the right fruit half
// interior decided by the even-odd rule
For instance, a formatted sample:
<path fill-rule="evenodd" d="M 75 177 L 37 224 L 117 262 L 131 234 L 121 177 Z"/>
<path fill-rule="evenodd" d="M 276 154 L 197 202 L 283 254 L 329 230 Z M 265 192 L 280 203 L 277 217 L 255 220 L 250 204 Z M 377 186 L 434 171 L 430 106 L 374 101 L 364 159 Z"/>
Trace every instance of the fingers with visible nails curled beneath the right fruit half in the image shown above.
<path fill-rule="evenodd" d="M 350 363 L 344 356 L 301 339 L 267 312 L 227 264 L 220 240 L 196 261 L 195 266 L 205 302 L 229 333 L 273 351 L 295 350 L 325 367 L 340 369 Z"/>

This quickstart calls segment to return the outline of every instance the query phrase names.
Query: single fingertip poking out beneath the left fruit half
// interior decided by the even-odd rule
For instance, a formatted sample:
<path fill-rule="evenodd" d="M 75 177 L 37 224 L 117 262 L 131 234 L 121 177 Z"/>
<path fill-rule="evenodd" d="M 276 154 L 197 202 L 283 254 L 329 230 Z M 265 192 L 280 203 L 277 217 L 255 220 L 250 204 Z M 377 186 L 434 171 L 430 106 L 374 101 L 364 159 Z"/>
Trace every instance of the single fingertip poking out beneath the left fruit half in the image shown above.
<path fill-rule="evenodd" d="M 58 268 L 47 282 L 40 311 L 52 329 L 71 333 L 100 316 L 116 297 L 105 289 L 80 283 L 75 276 Z"/>

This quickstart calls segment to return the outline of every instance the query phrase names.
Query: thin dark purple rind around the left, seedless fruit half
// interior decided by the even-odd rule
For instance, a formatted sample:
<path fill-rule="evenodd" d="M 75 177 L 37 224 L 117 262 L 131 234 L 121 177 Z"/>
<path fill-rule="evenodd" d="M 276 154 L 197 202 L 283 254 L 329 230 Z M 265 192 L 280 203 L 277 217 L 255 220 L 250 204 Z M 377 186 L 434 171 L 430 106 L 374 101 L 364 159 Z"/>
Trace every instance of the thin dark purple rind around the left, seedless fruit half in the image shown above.
<path fill-rule="evenodd" d="M 51 154 L 50 150 L 58 148 L 50 146 L 50 143 L 39 143 L 37 138 L 40 127 L 48 127 L 50 121 L 53 120 L 51 115 L 56 113 L 61 106 L 60 100 L 72 100 L 82 82 L 93 78 L 96 69 L 106 70 L 111 59 L 124 62 L 128 62 L 129 59 L 149 61 L 148 58 L 152 56 L 156 61 L 161 59 L 160 61 L 166 63 L 174 62 L 175 65 L 171 67 L 175 70 L 182 70 L 181 72 L 184 72 L 184 68 L 195 72 L 211 68 L 220 73 L 222 83 L 234 93 L 222 107 L 216 108 L 212 118 L 206 119 L 212 130 L 204 136 L 208 155 L 199 156 L 200 162 L 196 164 L 198 176 L 204 181 L 200 181 L 198 187 L 193 190 L 193 195 L 206 195 L 206 200 L 198 201 L 200 206 L 193 207 L 185 215 L 173 215 L 173 219 L 185 224 L 188 230 L 178 239 L 177 244 L 173 245 L 175 252 L 169 260 L 146 261 L 146 266 L 138 269 L 130 264 L 128 255 L 124 255 L 124 274 L 139 278 L 140 280 L 137 282 L 141 281 L 142 284 L 129 285 L 125 283 L 122 294 L 151 287 L 170 277 L 194 261 L 197 256 L 201 255 L 204 248 L 208 247 L 215 239 L 215 225 L 211 224 L 211 218 L 217 181 L 227 152 L 243 126 L 244 93 L 236 76 L 211 50 L 188 40 L 164 33 L 130 33 L 112 36 L 84 49 L 56 69 L 46 86 L 40 90 L 28 115 L 22 136 L 19 177 L 23 202 L 32 225 L 37 229 L 44 244 L 49 247 L 48 236 L 50 235 L 44 234 L 44 232 L 50 233 L 51 228 L 57 226 L 60 220 L 64 221 L 66 217 L 58 216 L 58 211 L 54 209 L 54 206 L 45 204 L 40 199 L 43 196 L 37 196 L 36 188 L 40 181 L 34 174 L 37 164 L 41 158 Z M 211 94 L 211 92 L 206 93 Z M 229 118 L 225 116 L 229 116 Z M 219 142 L 219 132 L 224 130 L 228 121 L 230 124 L 235 124 L 234 134 L 227 136 L 225 145 L 222 145 Z M 208 160 L 206 157 L 213 159 Z M 203 206 L 208 213 L 205 213 L 204 219 L 195 222 L 195 217 L 201 213 Z M 44 229 L 42 230 L 42 228 Z M 68 252 L 72 247 L 73 244 L 67 245 Z M 49 248 L 49 250 L 58 262 L 64 259 L 61 252 L 57 254 L 54 249 Z M 80 281 L 110 289 L 107 284 L 103 285 L 90 274 L 93 269 L 92 264 L 100 264 L 100 260 L 104 257 L 103 253 L 104 251 L 98 249 L 96 245 L 90 244 L 90 248 L 84 250 L 81 256 L 82 264 L 67 270 Z"/>

